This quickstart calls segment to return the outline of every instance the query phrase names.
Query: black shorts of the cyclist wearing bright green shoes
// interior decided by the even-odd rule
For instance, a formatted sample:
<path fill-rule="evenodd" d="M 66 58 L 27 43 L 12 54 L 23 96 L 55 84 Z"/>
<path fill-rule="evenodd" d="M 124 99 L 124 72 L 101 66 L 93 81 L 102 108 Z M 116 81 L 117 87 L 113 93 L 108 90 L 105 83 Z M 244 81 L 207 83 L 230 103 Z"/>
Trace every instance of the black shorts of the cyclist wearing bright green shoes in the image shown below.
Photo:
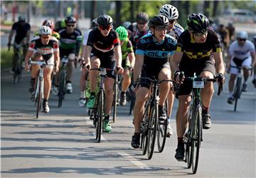
<path fill-rule="evenodd" d="M 100 67 L 105 67 L 107 69 L 114 69 L 115 67 L 114 52 L 99 52 L 92 50 L 90 57 L 98 57 L 100 59 Z M 116 74 L 112 70 L 107 71 L 107 77 L 115 79 Z"/>

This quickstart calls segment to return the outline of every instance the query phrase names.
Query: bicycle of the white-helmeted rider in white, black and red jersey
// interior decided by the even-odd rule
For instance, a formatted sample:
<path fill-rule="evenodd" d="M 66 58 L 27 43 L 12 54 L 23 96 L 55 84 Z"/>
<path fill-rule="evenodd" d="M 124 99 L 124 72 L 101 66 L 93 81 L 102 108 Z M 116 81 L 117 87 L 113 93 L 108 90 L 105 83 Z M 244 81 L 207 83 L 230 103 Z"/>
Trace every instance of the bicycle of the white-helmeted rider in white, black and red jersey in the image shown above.
<path fill-rule="evenodd" d="M 35 106 L 36 106 L 36 118 L 38 118 L 39 111 L 41 110 L 41 101 L 44 99 L 43 95 L 43 68 L 46 68 L 47 64 L 45 61 L 28 61 L 28 65 L 39 65 L 40 69 L 38 72 L 37 82 L 36 82 L 36 92 L 35 92 Z"/>

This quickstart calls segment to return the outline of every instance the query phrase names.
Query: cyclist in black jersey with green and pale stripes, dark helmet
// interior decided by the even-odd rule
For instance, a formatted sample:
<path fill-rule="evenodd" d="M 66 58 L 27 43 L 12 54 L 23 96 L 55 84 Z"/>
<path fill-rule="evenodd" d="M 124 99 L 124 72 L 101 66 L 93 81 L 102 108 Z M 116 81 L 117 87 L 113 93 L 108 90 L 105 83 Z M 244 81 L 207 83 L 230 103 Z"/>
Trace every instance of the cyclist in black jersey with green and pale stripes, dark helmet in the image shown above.
<path fill-rule="evenodd" d="M 75 28 L 76 19 L 73 16 L 65 18 L 65 28 L 60 28 L 60 58 L 68 57 L 68 74 L 66 89 L 68 93 L 73 92 L 71 79 L 73 77 L 74 61 L 78 58 L 80 52 L 80 45 L 82 41 L 82 33 L 78 28 Z M 58 76 L 59 74 L 57 74 Z M 55 87 L 53 93 L 58 94 L 58 79 L 55 80 Z"/>

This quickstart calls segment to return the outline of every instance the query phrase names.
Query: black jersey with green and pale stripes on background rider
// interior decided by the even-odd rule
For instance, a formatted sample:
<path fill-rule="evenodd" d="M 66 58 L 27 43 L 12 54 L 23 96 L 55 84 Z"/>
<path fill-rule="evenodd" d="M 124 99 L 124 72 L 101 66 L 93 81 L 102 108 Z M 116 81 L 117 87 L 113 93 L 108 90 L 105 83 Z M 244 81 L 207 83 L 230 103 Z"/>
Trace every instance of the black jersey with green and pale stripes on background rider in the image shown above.
<path fill-rule="evenodd" d="M 63 52 L 75 53 L 78 56 L 80 45 L 82 41 L 82 33 L 78 28 L 75 28 L 73 33 L 67 33 L 65 28 L 61 28 L 58 33 L 60 34 L 60 55 Z"/>

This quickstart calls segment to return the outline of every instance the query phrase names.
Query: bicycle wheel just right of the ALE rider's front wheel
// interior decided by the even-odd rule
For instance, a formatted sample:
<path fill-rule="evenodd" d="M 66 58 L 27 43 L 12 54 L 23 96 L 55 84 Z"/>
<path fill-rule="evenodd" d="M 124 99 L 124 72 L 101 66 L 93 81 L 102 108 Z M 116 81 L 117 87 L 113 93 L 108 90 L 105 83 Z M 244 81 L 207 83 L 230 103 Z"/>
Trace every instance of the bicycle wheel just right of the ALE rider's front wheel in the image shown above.
<path fill-rule="evenodd" d="M 164 107 L 166 108 L 166 113 L 168 113 L 168 102 L 165 101 Z M 165 121 L 157 122 L 157 148 L 159 152 L 163 152 L 164 145 L 166 143 L 166 134 L 167 134 L 167 119 Z"/>

